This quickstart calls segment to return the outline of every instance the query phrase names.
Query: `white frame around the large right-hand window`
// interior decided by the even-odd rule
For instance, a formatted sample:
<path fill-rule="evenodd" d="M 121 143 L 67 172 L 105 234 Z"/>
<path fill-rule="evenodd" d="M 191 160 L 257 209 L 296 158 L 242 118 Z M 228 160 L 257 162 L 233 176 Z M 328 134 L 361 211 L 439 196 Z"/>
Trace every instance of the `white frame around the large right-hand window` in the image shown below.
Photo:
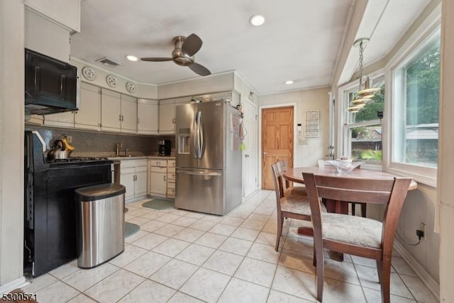
<path fill-rule="evenodd" d="M 384 67 L 384 80 L 385 80 L 385 100 L 384 104 L 385 112 L 389 113 L 389 116 L 384 117 L 384 129 L 383 129 L 383 165 L 384 170 L 392 172 L 397 175 L 405 175 L 412 177 L 416 182 L 428 184 L 436 187 L 437 182 L 437 168 L 436 167 L 423 167 L 419 165 L 413 165 L 410 163 L 395 162 L 393 160 L 394 145 L 397 145 L 395 136 L 399 135 L 401 129 L 399 128 L 398 117 L 402 116 L 402 110 L 404 106 L 399 106 L 397 102 L 397 94 L 402 95 L 404 89 L 402 72 L 399 71 L 402 65 L 405 65 L 409 60 L 413 60 L 428 43 L 431 42 L 433 35 L 436 35 L 441 28 L 441 11 L 438 6 L 434 9 L 428 17 L 421 23 L 421 25 L 412 33 L 408 40 L 402 45 L 394 56 L 387 62 Z M 438 138 L 439 140 L 440 138 Z"/>

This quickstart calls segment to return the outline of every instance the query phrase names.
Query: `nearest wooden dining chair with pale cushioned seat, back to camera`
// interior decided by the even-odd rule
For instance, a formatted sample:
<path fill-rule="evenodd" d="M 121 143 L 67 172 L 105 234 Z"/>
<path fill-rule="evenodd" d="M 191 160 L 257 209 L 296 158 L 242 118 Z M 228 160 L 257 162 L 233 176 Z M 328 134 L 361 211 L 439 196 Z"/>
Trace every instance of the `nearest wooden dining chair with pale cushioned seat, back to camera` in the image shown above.
<path fill-rule="evenodd" d="M 316 290 L 319 302 L 323 299 L 323 249 L 349 253 L 375 259 L 381 284 L 382 302 L 389 303 L 394 234 L 404 204 L 410 178 L 389 180 L 358 179 L 349 177 L 319 176 L 303 173 L 304 183 L 311 206 L 316 251 Z M 383 221 L 322 213 L 319 199 L 347 202 L 384 204 Z"/>

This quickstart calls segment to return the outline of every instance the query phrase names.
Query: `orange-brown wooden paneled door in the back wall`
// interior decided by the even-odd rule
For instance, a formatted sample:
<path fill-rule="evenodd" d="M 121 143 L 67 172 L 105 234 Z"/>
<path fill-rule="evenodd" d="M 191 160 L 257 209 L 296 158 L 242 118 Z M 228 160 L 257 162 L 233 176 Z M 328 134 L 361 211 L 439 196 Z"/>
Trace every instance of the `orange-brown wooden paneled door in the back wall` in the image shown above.
<path fill-rule="evenodd" d="M 293 167 L 293 106 L 262 109 L 262 189 L 275 189 L 270 166 Z"/>

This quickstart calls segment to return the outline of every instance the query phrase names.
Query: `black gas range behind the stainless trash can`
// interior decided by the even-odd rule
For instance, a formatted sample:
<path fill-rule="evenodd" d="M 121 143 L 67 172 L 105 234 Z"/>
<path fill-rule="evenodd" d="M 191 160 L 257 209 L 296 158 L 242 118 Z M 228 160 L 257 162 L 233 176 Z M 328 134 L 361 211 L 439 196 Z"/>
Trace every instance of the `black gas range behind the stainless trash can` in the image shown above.
<path fill-rule="evenodd" d="M 40 136 L 25 135 L 24 272 L 37 277 L 77 258 L 74 190 L 111 183 L 114 165 L 107 158 L 47 160 Z"/>

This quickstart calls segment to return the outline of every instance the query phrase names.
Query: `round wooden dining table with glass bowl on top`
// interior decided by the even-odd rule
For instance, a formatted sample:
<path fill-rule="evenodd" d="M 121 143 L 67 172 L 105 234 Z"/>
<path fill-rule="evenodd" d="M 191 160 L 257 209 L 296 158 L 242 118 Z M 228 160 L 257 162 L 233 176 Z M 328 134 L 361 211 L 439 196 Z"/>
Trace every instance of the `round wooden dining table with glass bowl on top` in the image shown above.
<path fill-rule="evenodd" d="M 377 170 L 365 170 L 362 168 L 356 168 L 348 173 L 339 173 L 334 166 L 323 166 L 323 167 L 293 167 L 289 168 L 282 174 L 284 179 L 299 184 L 304 184 L 303 172 L 313 173 L 314 175 L 331 176 L 339 178 L 353 178 L 353 179 L 375 179 L 375 180 L 393 180 L 394 177 L 399 177 L 389 172 L 382 172 Z M 418 184 L 416 181 L 411 180 L 409 190 L 416 189 Z M 348 202 L 325 199 L 323 203 L 326 206 L 326 211 L 337 214 L 348 214 Z M 304 236 L 311 236 L 312 229 L 307 227 L 298 228 L 298 233 Z M 343 254 L 337 252 L 330 252 L 331 258 L 342 261 Z"/>

